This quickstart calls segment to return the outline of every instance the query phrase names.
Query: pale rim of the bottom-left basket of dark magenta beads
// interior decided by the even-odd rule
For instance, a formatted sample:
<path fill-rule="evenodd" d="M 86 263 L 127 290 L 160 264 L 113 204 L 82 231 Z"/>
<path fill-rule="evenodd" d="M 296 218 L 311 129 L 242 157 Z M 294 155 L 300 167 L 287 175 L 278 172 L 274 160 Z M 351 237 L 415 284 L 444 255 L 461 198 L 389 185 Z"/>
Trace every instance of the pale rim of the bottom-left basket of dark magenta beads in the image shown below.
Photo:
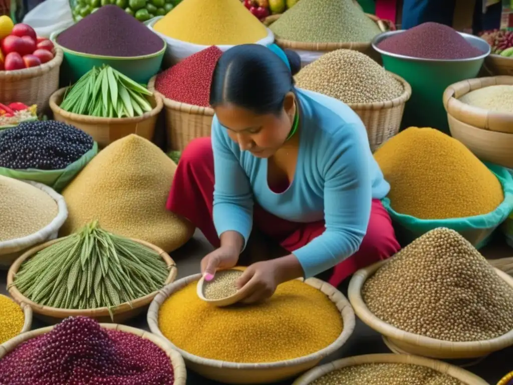
<path fill-rule="evenodd" d="M 187 371 L 185 369 L 184 359 L 180 353 L 173 350 L 173 347 L 169 342 L 163 338 L 159 338 L 151 333 L 148 333 L 141 329 L 131 328 L 130 326 L 118 325 L 114 323 L 102 323 L 100 324 L 103 329 L 113 329 L 119 332 L 134 334 L 143 339 L 147 339 L 153 342 L 157 347 L 161 348 L 166 355 L 169 357 L 173 366 L 174 382 L 173 385 L 185 385 L 187 381 Z M 21 345 L 29 339 L 41 336 L 42 334 L 50 332 L 54 326 L 48 326 L 47 328 L 36 329 L 31 332 L 21 334 L 17 337 L 10 339 L 4 344 L 0 345 L 0 360 L 5 357 L 8 353 L 12 352 L 18 345 Z"/>

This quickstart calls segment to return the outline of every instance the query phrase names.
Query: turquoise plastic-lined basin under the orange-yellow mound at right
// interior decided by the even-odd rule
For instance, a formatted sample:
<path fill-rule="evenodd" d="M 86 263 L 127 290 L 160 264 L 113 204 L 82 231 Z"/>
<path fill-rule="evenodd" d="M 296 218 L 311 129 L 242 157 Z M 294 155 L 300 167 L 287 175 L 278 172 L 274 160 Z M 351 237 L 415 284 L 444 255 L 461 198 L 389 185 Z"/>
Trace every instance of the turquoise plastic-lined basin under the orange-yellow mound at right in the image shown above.
<path fill-rule="evenodd" d="M 491 233 L 513 211 L 513 178 L 507 168 L 491 163 L 483 163 L 495 174 L 504 192 L 504 200 L 491 213 L 466 218 L 419 219 L 397 213 L 390 206 L 390 199 L 383 199 L 383 206 L 390 214 L 400 243 L 409 243 L 434 228 L 448 227 L 456 230 L 477 248 L 486 245 Z"/>

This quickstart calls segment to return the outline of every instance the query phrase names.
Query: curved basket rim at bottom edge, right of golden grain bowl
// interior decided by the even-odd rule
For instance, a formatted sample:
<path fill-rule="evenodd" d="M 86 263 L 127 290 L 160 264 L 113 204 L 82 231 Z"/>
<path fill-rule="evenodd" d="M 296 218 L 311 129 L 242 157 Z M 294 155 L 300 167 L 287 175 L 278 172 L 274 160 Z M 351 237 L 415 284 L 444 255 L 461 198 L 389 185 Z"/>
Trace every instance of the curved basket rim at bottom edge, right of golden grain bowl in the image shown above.
<path fill-rule="evenodd" d="M 334 370 L 366 363 L 403 363 L 408 365 L 419 365 L 447 374 L 452 378 L 460 380 L 465 385 L 489 385 L 488 382 L 475 374 L 453 365 L 449 365 L 448 363 L 424 357 L 399 354 L 367 354 L 363 356 L 343 358 L 320 367 L 313 368 L 295 380 L 292 385 L 309 385 L 313 381 Z"/>

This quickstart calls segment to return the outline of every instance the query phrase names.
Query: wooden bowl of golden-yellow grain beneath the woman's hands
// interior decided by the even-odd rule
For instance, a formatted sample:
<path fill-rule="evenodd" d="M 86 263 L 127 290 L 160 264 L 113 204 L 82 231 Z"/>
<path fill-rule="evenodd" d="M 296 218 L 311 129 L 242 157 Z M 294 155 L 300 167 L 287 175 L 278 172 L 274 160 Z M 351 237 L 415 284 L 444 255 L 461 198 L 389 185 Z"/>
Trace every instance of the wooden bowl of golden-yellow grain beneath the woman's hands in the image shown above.
<path fill-rule="evenodd" d="M 338 350 L 354 330 L 349 302 L 321 280 L 286 282 L 258 305 L 216 307 L 198 298 L 200 278 L 166 286 L 150 305 L 148 324 L 204 377 L 243 384 L 293 377 Z"/>

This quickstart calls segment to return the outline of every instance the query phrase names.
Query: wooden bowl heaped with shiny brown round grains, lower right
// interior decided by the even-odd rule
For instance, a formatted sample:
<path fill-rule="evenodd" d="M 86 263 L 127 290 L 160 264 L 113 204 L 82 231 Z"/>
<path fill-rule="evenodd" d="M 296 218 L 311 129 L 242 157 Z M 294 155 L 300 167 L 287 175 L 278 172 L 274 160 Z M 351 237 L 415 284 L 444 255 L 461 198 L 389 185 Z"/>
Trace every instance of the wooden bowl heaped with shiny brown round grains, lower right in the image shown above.
<path fill-rule="evenodd" d="M 360 319 L 408 354 L 475 358 L 513 344 L 513 278 L 448 228 L 361 269 L 348 293 Z"/>

